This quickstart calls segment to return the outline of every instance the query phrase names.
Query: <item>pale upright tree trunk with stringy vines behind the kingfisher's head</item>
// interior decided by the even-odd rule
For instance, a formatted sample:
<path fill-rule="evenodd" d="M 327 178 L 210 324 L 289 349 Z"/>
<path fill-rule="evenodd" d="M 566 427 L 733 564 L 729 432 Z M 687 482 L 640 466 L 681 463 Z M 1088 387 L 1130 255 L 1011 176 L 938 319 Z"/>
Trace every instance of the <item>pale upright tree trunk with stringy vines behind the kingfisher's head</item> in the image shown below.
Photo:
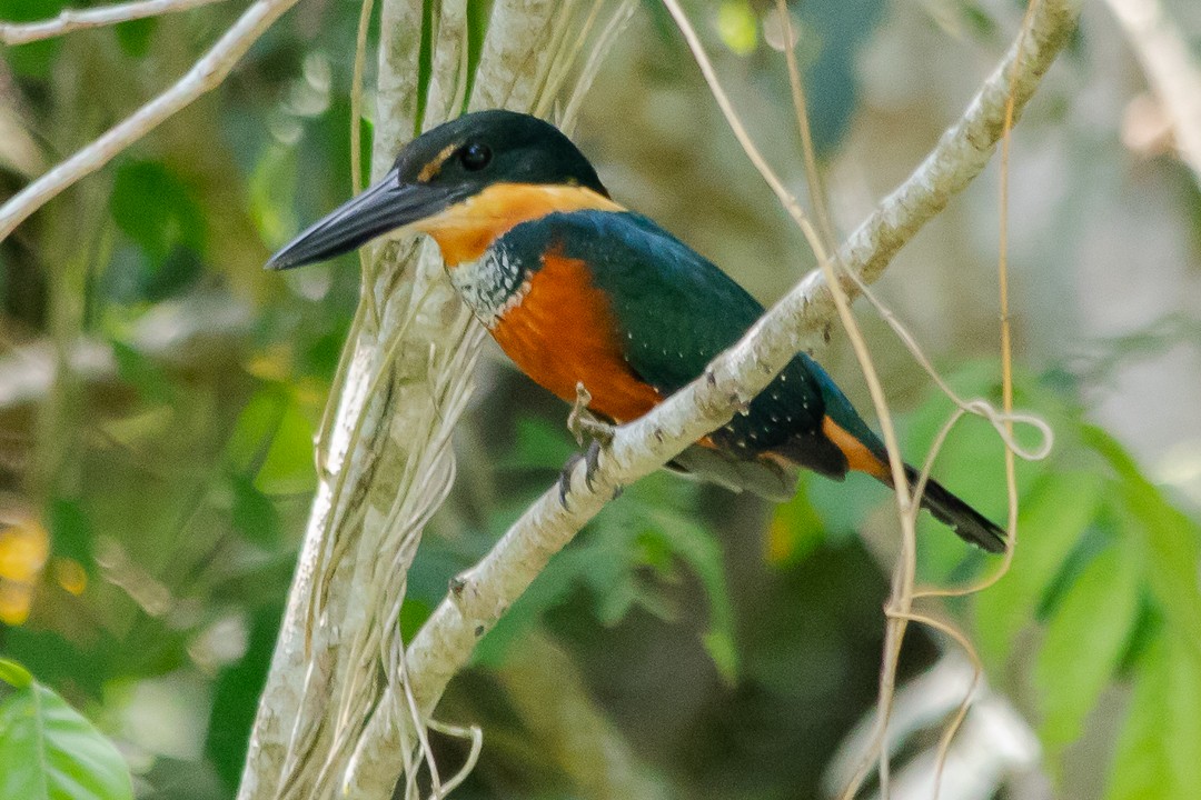
<path fill-rule="evenodd" d="M 496 0 L 471 108 L 532 109 L 555 53 L 574 58 L 558 47 L 578 35 L 574 6 Z M 376 178 L 414 128 L 422 25 L 422 0 L 383 0 Z M 461 106 L 466 0 L 444 0 L 432 28 L 426 128 Z M 342 790 L 387 798 L 414 746 L 398 616 L 422 528 L 454 477 L 450 434 L 472 390 L 483 332 L 432 246 L 387 243 L 368 267 L 330 398 L 335 410 L 317 441 L 317 495 L 251 734 L 241 800 Z"/>

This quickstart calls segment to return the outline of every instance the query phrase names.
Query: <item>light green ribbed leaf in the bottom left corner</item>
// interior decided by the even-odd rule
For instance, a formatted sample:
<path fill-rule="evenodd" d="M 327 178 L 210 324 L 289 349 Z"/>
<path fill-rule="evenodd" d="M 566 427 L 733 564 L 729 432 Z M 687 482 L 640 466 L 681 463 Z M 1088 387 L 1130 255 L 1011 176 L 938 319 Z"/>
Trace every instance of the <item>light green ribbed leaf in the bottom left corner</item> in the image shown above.
<path fill-rule="evenodd" d="M 132 800 L 133 787 L 113 744 L 61 697 L 30 682 L 0 703 L 0 796 Z"/>

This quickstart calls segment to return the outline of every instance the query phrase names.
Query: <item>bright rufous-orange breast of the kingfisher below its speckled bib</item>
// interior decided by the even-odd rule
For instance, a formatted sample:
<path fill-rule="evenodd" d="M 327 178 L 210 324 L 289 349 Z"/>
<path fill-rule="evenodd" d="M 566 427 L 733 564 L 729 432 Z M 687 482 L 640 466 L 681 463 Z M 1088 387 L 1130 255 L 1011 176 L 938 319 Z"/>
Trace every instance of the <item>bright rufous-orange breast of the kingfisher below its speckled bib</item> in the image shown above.
<path fill-rule="evenodd" d="M 574 403 L 575 384 L 584 381 L 590 408 L 616 422 L 646 414 L 661 399 L 626 363 L 609 301 L 580 260 L 545 255 L 521 303 L 491 333 L 540 386 Z"/>

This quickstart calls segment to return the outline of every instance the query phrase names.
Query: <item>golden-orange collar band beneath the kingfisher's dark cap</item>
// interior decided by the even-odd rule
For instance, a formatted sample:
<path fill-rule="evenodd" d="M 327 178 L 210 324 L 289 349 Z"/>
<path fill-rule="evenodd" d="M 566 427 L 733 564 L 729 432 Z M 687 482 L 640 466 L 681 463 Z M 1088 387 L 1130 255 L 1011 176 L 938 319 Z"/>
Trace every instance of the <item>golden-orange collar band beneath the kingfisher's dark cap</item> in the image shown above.
<path fill-rule="evenodd" d="M 414 228 L 434 237 L 442 259 L 453 269 L 483 255 L 494 241 L 522 222 L 556 211 L 582 209 L 625 211 L 609 198 L 581 186 L 494 184 Z M 575 389 L 572 389 L 574 397 Z"/>

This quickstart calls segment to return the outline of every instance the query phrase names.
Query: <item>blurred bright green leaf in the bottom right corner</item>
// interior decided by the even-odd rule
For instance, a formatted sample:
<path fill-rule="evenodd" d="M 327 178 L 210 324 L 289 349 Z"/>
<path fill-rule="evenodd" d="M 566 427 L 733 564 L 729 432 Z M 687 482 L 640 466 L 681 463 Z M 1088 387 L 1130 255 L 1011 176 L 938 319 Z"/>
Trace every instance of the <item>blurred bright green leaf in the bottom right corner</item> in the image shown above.
<path fill-rule="evenodd" d="M 1163 636 L 1140 666 L 1105 800 L 1196 796 L 1201 787 L 1201 658 L 1181 638 Z"/>

